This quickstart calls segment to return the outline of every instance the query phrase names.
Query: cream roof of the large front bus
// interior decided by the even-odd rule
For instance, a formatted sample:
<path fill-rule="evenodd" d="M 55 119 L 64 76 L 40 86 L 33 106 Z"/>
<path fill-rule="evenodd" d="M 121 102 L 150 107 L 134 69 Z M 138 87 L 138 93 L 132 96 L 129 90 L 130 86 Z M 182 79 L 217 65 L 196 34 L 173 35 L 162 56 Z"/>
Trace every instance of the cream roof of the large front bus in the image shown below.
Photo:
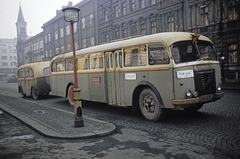
<path fill-rule="evenodd" d="M 164 43 L 167 46 L 171 46 L 173 43 L 178 41 L 186 41 L 186 40 L 192 40 L 193 33 L 190 32 L 164 32 L 164 33 L 157 33 L 152 35 L 145 35 L 141 37 L 131 38 L 131 39 L 125 39 L 121 41 L 96 45 L 93 47 L 80 49 L 76 51 L 76 55 L 86 54 L 86 53 L 94 53 L 94 52 L 102 52 L 102 51 L 110 51 L 110 50 L 118 50 L 124 47 L 129 46 L 136 46 L 141 44 L 148 44 L 148 43 Z M 209 38 L 207 38 L 204 35 L 201 35 L 199 40 L 204 40 L 211 42 Z M 211 42 L 212 43 L 212 42 Z M 54 59 L 63 58 L 63 57 L 70 57 L 72 56 L 72 52 L 66 53 L 66 54 L 60 54 Z"/>

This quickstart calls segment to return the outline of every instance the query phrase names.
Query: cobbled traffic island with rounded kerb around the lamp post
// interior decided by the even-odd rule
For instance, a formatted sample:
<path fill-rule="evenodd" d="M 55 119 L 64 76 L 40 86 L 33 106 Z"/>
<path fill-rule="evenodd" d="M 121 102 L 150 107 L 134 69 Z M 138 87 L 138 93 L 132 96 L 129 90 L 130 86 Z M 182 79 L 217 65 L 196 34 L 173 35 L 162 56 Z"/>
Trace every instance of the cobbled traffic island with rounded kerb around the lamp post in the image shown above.
<path fill-rule="evenodd" d="M 6 106 L 0 101 L 0 109 L 15 116 L 40 134 L 52 138 L 76 139 L 104 136 L 114 133 L 115 125 L 83 116 L 84 126 L 74 127 L 74 114 L 53 107 L 29 102 L 21 106 L 20 99 Z"/>

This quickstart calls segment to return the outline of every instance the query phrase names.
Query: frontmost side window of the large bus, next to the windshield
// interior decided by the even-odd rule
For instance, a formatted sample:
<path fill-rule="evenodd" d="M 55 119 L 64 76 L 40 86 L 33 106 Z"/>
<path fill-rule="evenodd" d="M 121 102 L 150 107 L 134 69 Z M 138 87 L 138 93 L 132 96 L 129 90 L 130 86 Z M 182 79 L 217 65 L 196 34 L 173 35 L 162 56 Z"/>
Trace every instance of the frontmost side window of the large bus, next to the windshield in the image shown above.
<path fill-rule="evenodd" d="M 154 44 L 149 45 L 149 64 L 158 65 L 158 64 L 168 64 L 169 57 L 167 49 L 164 45 Z"/>

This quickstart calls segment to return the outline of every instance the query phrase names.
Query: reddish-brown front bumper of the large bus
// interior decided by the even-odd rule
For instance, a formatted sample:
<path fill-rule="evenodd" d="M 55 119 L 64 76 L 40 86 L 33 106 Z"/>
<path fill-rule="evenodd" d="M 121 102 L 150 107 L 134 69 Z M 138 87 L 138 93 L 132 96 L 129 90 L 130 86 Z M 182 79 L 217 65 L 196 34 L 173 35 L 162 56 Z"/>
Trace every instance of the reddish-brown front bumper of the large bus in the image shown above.
<path fill-rule="evenodd" d="M 172 100 L 172 104 L 175 106 L 181 106 L 181 105 L 193 105 L 198 103 L 208 103 L 211 101 L 216 101 L 222 98 L 223 96 L 224 92 L 219 92 L 215 94 L 203 95 L 196 98 Z"/>

